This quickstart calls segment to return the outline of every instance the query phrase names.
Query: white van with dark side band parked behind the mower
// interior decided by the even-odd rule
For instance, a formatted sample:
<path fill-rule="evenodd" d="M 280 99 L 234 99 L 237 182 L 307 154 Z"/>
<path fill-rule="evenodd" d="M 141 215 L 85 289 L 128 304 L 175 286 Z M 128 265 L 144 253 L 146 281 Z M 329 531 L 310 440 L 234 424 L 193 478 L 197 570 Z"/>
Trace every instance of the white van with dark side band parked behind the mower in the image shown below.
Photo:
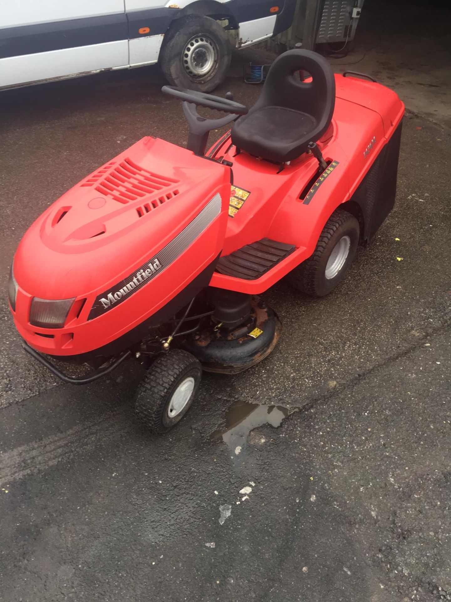
<path fill-rule="evenodd" d="M 230 40 L 289 28 L 295 0 L 0 0 L 0 88 L 161 64 L 173 85 L 209 92 Z M 229 31 L 230 30 L 230 31 Z"/>

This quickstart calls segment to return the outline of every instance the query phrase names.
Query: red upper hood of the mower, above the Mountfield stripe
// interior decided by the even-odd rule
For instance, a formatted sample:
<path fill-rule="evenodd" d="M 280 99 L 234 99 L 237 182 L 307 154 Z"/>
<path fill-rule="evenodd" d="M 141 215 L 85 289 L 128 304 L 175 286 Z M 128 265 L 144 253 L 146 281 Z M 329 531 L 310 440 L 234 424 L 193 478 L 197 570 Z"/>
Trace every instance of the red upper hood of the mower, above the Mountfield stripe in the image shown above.
<path fill-rule="evenodd" d="M 14 258 L 19 287 L 43 299 L 67 299 L 120 280 L 172 240 L 228 178 L 224 166 L 143 138 L 28 229 Z"/>

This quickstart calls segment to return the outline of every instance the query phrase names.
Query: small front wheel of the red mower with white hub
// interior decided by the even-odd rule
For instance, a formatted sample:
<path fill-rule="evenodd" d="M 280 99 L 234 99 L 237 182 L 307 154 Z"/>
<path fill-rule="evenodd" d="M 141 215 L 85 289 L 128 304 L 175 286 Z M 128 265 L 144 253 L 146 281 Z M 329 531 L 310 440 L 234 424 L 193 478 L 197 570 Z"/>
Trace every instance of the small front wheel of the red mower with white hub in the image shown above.
<path fill-rule="evenodd" d="M 182 349 L 159 356 L 141 380 L 135 413 L 151 432 L 172 429 L 191 408 L 201 380 L 200 362 Z"/>

